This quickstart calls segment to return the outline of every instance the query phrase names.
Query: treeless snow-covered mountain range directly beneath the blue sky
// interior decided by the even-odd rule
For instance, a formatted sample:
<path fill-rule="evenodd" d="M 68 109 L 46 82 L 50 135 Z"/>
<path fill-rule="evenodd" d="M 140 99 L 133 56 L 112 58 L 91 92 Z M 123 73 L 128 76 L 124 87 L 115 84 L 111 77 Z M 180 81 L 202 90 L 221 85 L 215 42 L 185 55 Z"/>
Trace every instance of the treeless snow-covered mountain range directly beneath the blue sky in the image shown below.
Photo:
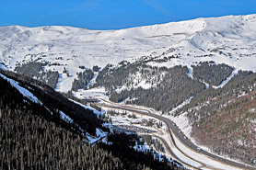
<path fill-rule="evenodd" d="M 70 87 L 79 66 L 149 60 L 158 66 L 225 62 L 256 72 L 256 15 L 197 18 L 139 28 L 88 30 L 46 26 L 0 28 L 0 63 L 14 70 L 18 63 L 47 62 L 45 70 Z M 161 61 L 161 62 L 159 62 Z M 156 63 L 157 62 L 157 63 Z M 59 90 L 64 90 L 60 87 Z"/>

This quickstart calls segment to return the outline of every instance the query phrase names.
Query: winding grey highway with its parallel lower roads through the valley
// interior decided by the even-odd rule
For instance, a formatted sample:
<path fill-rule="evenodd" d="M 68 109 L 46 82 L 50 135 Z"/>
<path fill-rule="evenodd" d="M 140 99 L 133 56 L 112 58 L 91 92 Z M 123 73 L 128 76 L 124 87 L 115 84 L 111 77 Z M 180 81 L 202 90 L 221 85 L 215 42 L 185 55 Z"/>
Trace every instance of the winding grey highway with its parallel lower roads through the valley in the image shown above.
<path fill-rule="evenodd" d="M 175 137 L 177 139 L 180 140 L 180 142 L 182 142 L 183 145 L 185 145 L 187 148 L 190 148 L 193 152 L 196 153 L 201 153 L 206 155 L 207 157 L 209 157 L 212 160 L 215 160 L 221 164 L 227 164 L 236 168 L 240 168 L 240 169 L 248 169 L 248 170 L 256 170 L 256 168 L 251 167 L 249 165 L 246 164 L 239 164 L 237 162 L 225 159 L 223 157 L 217 156 L 213 153 L 208 153 L 200 148 L 198 148 L 198 146 L 196 146 L 194 143 L 192 143 L 189 139 L 187 139 L 183 133 L 180 132 L 179 128 L 175 125 L 175 123 L 173 121 L 171 121 L 168 118 L 162 117 L 160 115 L 154 114 L 152 113 L 152 111 L 147 110 L 147 109 L 142 109 L 142 108 L 134 108 L 131 106 L 124 106 L 124 105 L 119 105 L 116 103 L 112 103 L 108 100 L 105 100 L 103 98 L 99 98 L 99 100 L 101 100 L 102 102 L 104 102 L 104 104 L 99 104 L 101 105 L 105 105 L 105 107 L 108 108 L 115 108 L 115 109 L 122 109 L 122 110 L 127 110 L 127 111 L 131 111 L 134 112 L 136 114 L 140 114 L 140 115 L 145 115 L 145 116 L 149 116 L 158 120 L 163 121 L 167 127 L 168 127 L 168 132 L 169 132 L 169 138 L 172 142 L 172 144 L 180 151 L 180 153 L 183 153 L 184 155 L 186 155 L 187 157 L 189 157 L 190 159 L 192 159 L 193 161 L 202 164 L 202 166 L 200 167 L 194 167 L 192 164 L 188 164 L 188 163 L 184 163 L 182 160 L 180 160 L 172 151 L 171 148 L 169 147 L 169 144 L 162 138 L 160 138 L 160 140 L 164 143 L 164 145 L 167 147 L 169 153 L 174 157 L 174 159 L 176 159 L 177 161 L 180 161 L 181 164 L 185 164 L 186 166 L 192 167 L 193 169 L 201 169 L 202 167 L 208 167 L 208 168 L 213 168 L 212 166 L 209 166 L 205 163 L 203 163 L 201 160 L 197 160 L 196 158 L 192 158 L 192 156 L 184 153 L 183 151 L 180 150 L 180 148 L 177 146 L 177 143 L 174 140 L 173 135 L 175 135 Z M 108 105 L 107 105 L 108 104 Z M 107 105 L 107 106 L 106 106 Z M 215 169 L 215 168 L 213 168 Z"/>

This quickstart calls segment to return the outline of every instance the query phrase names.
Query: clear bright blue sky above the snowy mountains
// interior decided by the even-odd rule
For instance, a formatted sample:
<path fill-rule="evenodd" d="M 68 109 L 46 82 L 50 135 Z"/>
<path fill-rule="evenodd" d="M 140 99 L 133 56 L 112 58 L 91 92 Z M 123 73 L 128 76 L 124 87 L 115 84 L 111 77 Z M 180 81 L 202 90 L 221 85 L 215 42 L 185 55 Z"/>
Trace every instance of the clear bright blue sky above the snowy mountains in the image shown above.
<path fill-rule="evenodd" d="M 0 0 L 0 27 L 118 29 L 256 13 L 256 0 Z"/>

